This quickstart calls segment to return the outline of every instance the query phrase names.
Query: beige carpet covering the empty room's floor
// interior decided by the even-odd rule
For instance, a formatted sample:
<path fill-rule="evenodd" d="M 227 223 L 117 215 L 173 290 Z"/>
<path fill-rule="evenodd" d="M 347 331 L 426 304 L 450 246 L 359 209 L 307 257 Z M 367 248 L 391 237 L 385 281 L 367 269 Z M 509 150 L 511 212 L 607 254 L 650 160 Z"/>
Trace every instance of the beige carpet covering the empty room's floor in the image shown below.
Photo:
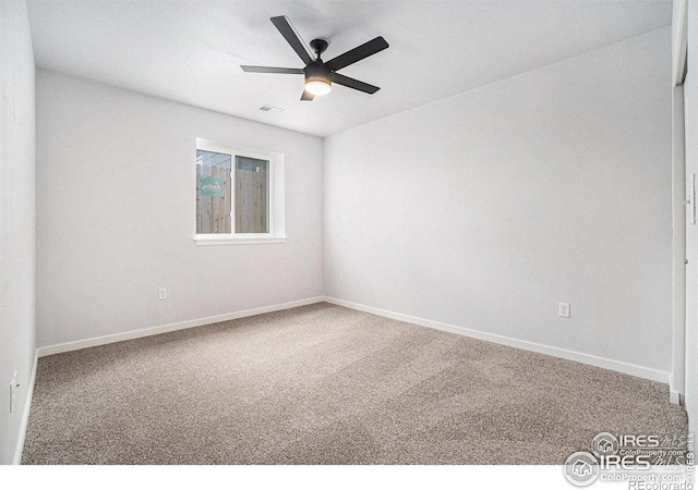
<path fill-rule="evenodd" d="M 24 464 L 562 464 L 665 384 L 317 304 L 39 359 Z"/>

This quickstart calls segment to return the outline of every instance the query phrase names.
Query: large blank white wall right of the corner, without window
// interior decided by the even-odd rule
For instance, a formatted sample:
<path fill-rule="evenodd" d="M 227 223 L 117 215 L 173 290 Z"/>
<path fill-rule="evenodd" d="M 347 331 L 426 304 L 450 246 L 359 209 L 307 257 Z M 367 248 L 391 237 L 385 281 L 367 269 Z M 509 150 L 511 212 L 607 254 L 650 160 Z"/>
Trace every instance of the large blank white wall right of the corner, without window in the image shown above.
<path fill-rule="evenodd" d="M 671 63 L 666 27 L 327 138 L 325 294 L 669 379 Z"/>

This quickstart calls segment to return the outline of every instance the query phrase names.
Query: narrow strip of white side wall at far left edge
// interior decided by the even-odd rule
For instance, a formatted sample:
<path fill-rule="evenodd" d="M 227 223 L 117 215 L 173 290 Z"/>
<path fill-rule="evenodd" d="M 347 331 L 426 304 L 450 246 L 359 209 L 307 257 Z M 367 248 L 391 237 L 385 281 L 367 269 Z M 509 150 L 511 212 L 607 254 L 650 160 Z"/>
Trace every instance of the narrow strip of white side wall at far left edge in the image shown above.
<path fill-rule="evenodd" d="M 26 5 L 0 2 L 0 464 L 19 454 L 35 327 L 34 52 Z M 10 380 L 17 401 L 10 414 Z"/>

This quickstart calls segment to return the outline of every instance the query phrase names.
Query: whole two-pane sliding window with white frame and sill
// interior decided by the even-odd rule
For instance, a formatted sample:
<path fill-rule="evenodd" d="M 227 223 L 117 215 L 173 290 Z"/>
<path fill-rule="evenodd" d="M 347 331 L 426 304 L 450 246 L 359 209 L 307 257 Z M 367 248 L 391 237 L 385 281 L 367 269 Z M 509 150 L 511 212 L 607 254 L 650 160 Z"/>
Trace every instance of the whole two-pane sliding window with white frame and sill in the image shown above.
<path fill-rule="evenodd" d="M 196 140 L 197 245 L 279 243 L 284 156 Z"/>

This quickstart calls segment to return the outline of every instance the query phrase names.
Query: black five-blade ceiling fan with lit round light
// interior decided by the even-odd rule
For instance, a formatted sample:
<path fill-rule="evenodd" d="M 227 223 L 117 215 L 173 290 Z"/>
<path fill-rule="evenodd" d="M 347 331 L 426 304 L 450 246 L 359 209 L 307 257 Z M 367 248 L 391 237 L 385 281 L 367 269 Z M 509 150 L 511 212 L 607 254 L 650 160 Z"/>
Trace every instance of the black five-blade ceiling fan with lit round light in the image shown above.
<path fill-rule="evenodd" d="M 381 88 L 374 85 L 360 82 L 354 78 L 350 78 L 337 73 L 337 70 L 341 70 L 345 66 L 361 61 L 364 58 L 369 58 L 378 51 L 383 51 L 388 47 L 388 44 L 378 36 L 375 39 L 371 39 L 363 45 L 353 48 L 344 54 L 339 54 L 329 61 L 321 60 L 320 56 L 327 49 L 327 41 L 324 39 L 313 39 L 310 41 L 310 47 L 315 52 L 316 59 L 313 60 L 308 52 L 305 45 L 300 39 L 300 36 L 296 34 L 296 29 L 285 15 L 272 17 L 272 23 L 279 29 L 281 36 L 291 45 L 293 51 L 303 60 L 305 68 L 303 69 L 287 69 L 276 66 L 249 66 L 240 65 L 240 68 L 248 73 L 279 73 L 290 75 L 305 75 L 305 87 L 301 100 L 313 100 L 315 96 L 322 96 L 328 94 L 332 90 L 332 84 L 336 83 L 344 85 L 345 87 L 353 88 L 356 90 L 365 91 L 366 94 L 375 94 Z"/>

